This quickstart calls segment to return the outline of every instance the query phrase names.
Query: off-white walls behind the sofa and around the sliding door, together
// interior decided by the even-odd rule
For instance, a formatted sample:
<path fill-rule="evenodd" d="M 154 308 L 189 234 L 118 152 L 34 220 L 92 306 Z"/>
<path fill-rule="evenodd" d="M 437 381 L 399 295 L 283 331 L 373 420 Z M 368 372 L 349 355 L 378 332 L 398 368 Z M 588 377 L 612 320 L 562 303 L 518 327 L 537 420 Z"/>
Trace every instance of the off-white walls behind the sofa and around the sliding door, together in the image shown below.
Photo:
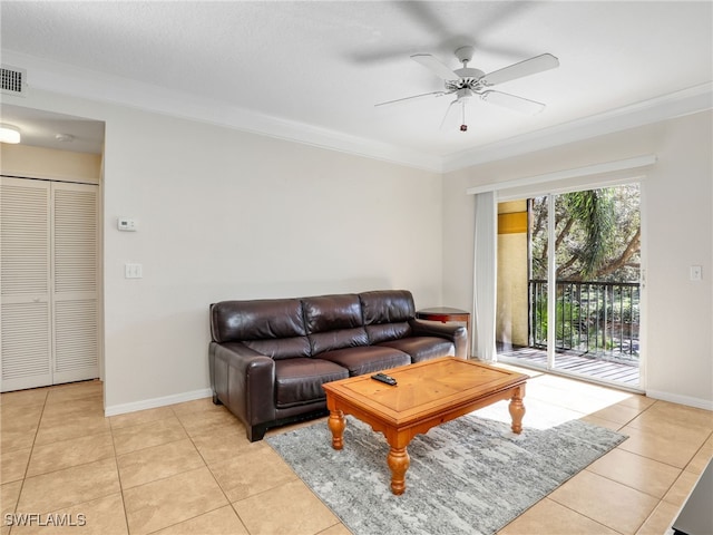
<path fill-rule="evenodd" d="M 644 198 L 647 391 L 713 408 L 710 111 L 452 172 L 441 189 L 437 174 L 131 108 L 3 100 L 106 121 L 108 412 L 205 395 L 216 300 L 406 288 L 417 307 L 470 310 L 468 187 L 644 154 L 660 159 Z M 120 215 L 139 231 L 118 232 Z"/>

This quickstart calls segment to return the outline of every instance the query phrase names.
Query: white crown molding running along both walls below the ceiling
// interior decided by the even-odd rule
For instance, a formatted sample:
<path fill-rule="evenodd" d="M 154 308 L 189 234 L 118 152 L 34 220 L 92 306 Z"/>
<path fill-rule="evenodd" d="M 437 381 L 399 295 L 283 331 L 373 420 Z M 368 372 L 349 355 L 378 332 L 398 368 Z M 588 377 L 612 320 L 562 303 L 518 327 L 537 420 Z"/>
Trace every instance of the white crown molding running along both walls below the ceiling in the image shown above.
<path fill-rule="evenodd" d="M 128 106 L 434 173 L 458 171 L 713 108 L 713 84 L 709 82 L 441 157 L 11 50 L 2 50 L 2 62 L 26 69 L 30 90 L 38 88 Z"/>

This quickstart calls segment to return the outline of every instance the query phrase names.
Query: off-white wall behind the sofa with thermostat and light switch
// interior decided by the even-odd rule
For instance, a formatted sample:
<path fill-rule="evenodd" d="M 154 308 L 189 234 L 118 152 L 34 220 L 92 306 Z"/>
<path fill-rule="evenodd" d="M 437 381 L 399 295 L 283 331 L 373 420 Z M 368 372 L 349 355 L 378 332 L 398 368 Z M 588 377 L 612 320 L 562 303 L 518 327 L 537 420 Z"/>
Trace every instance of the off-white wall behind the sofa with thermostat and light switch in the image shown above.
<path fill-rule="evenodd" d="M 106 121 L 107 414 L 207 393 L 212 302 L 375 289 L 441 301 L 438 174 L 41 91 L 17 104 Z M 144 278 L 124 279 L 125 262 Z"/>

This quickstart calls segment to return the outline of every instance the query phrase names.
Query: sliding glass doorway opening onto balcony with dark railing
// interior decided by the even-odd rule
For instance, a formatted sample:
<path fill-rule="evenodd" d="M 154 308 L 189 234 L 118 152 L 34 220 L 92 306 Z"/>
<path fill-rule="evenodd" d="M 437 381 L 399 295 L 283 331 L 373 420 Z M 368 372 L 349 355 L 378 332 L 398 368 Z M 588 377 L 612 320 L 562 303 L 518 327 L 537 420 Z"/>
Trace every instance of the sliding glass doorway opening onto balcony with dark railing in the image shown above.
<path fill-rule="evenodd" d="M 498 360 L 641 389 L 638 184 L 498 207 Z"/>

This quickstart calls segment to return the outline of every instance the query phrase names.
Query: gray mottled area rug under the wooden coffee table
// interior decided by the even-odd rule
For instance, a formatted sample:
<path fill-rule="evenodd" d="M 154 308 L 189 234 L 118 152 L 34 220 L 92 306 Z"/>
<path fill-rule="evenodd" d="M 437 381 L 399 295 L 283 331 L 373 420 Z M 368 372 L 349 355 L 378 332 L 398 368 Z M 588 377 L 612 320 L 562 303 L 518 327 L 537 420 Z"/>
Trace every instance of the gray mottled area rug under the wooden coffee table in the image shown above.
<path fill-rule="evenodd" d="M 496 533 L 625 439 L 579 420 L 518 436 L 470 414 L 411 441 L 401 496 L 384 437 L 353 417 L 341 451 L 325 420 L 266 440 L 356 535 L 475 535 Z"/>

